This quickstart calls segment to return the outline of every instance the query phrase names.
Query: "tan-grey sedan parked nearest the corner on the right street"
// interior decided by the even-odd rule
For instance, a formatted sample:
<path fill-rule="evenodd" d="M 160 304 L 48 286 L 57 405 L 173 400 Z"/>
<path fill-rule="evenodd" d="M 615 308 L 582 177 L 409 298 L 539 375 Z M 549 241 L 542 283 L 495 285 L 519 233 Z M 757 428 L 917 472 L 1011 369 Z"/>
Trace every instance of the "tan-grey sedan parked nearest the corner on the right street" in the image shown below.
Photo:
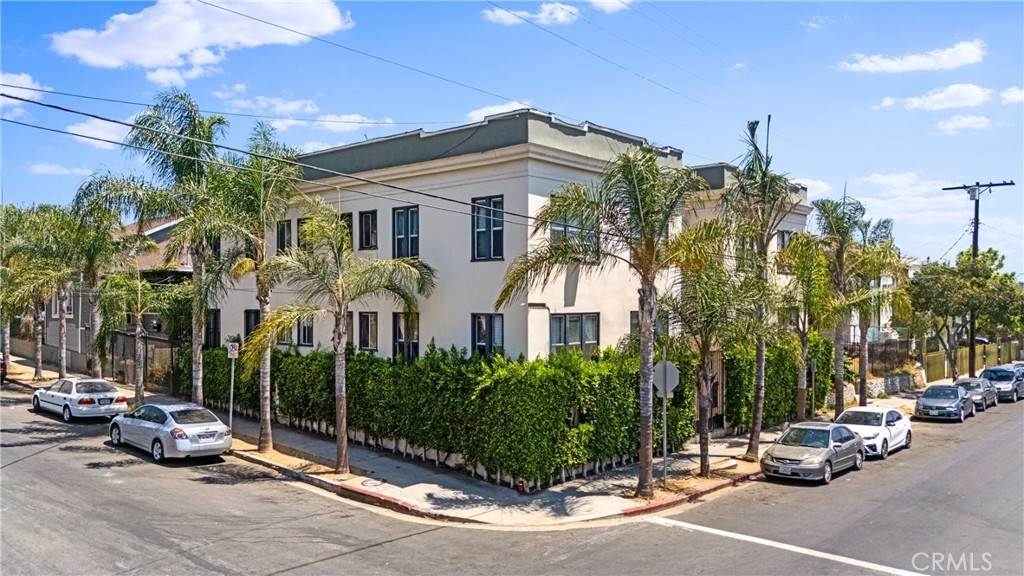
<path fill-rule="evenodd" d="M 761 457 L 765 476 L 831 482 L 833 472 L 864 466 L 864 441 L 833 422 L 800 422 L 786 429 Z"/>

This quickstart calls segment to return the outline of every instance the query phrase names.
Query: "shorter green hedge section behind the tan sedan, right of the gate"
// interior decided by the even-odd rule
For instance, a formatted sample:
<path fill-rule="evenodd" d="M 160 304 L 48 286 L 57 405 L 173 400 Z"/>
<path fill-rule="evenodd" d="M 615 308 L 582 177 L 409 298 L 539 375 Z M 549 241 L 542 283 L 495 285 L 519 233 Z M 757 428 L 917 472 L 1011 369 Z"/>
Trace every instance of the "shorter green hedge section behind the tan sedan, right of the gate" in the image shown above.
<path fill-rule="evenodd" d="M 811 333 L 808 365 L 817 360 L 815 376 L 815 408 L 824 406 L 825 395 L 831 389 L 833 343 L 817 333 Z M 800 341 L 796 336 L 770 344 L 765 351 L 765 407 L 763 426 L 774 426 L 793 418 L 797 405 L 797 375 L 800 362 Z M 725 353 L 726 386 L 725 414 L 729 423 L 750 427 L 754 420 L 755 351 L 753 346 L 734 346 Z M 808 374 L 807 402 L 811 402 Z"/>

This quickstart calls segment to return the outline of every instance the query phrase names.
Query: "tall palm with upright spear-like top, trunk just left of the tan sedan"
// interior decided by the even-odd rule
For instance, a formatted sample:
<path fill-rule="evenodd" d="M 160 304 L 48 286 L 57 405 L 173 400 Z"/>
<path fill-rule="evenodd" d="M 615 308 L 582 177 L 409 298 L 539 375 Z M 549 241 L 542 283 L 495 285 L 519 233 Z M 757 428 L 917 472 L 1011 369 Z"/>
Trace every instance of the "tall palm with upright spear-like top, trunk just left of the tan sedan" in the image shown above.
<path fill-rule="evenodd" d="M 768 117 L 769 127 L 771 117 Z M 722 213 L 733 219 L 737 229 L 736 237 L 740 245 L 750 248 L 748 263 L 750 274 L 755 275 L 764 285 L 768 284 L 771 266 L 768 251 L 782 221 L 794 214 L 800 204 L 800 197 L 794 194 L 785 177 L 772 172 L 771 156 L 758 145 L 757 120 L 746 123 L 744 142 L 748 152 L 742 166 L 736 172 L 735 183 L 726 188 L 721 199 Z M 765 326 L 772 315 L 762 300 L 757 306 L 757 345 L 754 371 L 754 414 L 750 441 L 744 459 L 757 460 L 761 442 L 761 422 L 765 402 L 765 349 L 767 347 Z"/>

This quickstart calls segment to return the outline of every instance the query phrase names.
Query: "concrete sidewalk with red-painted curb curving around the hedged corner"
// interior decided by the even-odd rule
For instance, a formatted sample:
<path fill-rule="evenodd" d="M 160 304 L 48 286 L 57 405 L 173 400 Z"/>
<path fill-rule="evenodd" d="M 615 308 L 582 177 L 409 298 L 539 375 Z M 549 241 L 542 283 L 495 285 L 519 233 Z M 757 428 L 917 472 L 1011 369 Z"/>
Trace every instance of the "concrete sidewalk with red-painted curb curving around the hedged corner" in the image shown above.
<path fill-rule="evenodd" d="M 42 382 L 29 384 L 32 377 L 31 361 L 11 357 L 10 376 L 22 386 L 38 387 L 56 379 L 52 370 L 44 370 Z M 77 374 L 76 374 L 77 375 Z M 124 389 L 128 389 L 122 386 Z M 131 394 L 131 393 L 129 393 Z M 912 406 L 913 393 L 895 395 L 885 400 L 872 399 L 871 405 Z M 147 394 L 147 402 L 171 402 L 176 399 Z M 227 422 L 227 414 L 218 416 Z M 236 439 L 233 455 L 254 463 L 276 469 L 279 472 L 318 486 L 343 497 L 372 503 L 415 516 L 443 519 L 451 522 L 482 523 L 499 526 L 551 526 L 599 519 L 624 518 L 651 512 L 683 502 L 696 500 L 711 492 L 758 478 L 756 469 L 733 478 L 700 481 L 688 493 L 658 491 L 658 498 L 641 500 L 632 498 L 637 484 L 636 463 L 620 466 L 597 476 L 566 480 L 540 492 L 520 494 L 506 480 L 497 486 L 481 479 L 474 479 L 447 468 L 388 452 L 377 452 L 349 443 L 349 465 L 352 474 L 345 480 L 329 476 L 315 476 L 304 471 L 300 465 L 282 465 L 255 452 L 259 435 L 258 422 L 236 414 L 232 422 Z M 761 445 L 767 448 L 780 429 L 765 430 Z M 276 452 L 325 465 L 333 465 L 336 453 L 335 440 L 283 425 L 273 427 L 273 445 Z M 746 437 L 726 437 L 711 441 L 713 469 L 737 465 L 734 457 L 745 452 Z M 669 458 L 670 483 L 688 477 L 699 465 L 697 445 L 687 444 L 679 453 Z M 739 464 L 750 468 L 746 462 Z M 655 486 L 660 487 L 664 460 L 654 458 Z M 743 468 L 743 469 L 746 469 Z"/>

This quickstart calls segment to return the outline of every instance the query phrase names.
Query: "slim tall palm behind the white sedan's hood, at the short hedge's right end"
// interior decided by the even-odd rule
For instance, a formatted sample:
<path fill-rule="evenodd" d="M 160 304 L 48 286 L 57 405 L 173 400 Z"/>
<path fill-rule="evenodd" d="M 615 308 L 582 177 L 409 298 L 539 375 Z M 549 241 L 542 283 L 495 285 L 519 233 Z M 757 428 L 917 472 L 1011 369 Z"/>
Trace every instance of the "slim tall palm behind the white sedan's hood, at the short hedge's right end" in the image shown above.
<path fill-rule="evenodd" d="M 821 247 L 828 261 L 828 277 L 837 297 L 836 325 L 836 417 L 843 413 L 845 370 L 843 364 L 846 347 L 846 332 L 849 330 L 850 300 L 848 292 L 854 273 L 854 258 L 858 247 L 858 234 L 863 225 L 864 206 L 852 198 L 843 195 L 842 200 L 821 198 L 811 205 L 816 210 L 815 220 L 818 227 Z"/>

